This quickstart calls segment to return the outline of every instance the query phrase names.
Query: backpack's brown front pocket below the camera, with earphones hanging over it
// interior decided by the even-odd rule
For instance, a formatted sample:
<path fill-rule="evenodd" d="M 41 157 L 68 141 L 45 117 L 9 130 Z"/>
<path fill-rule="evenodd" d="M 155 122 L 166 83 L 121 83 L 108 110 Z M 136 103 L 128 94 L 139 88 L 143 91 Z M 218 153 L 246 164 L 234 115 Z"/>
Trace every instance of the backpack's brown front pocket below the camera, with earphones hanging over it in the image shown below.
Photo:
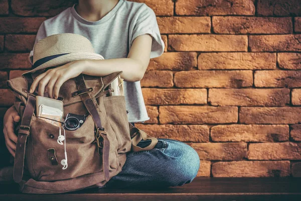
<path fill-rule="evenodd" d="M 63 144 L 58 143 L 60 128 L 42 119 L 33 117 L 31 134 L 26 149 L 29 172 L 39 181 L 75 178 L 102 170 L 102 157 L 94 142 L 94 122 L 88 116 L 85 126 L 75 131 L 65 130 Z M 61 135 L 64 130 L 61 129 Z M 68 167 L 63 169 L 61 161 L 67 153 Z"/>

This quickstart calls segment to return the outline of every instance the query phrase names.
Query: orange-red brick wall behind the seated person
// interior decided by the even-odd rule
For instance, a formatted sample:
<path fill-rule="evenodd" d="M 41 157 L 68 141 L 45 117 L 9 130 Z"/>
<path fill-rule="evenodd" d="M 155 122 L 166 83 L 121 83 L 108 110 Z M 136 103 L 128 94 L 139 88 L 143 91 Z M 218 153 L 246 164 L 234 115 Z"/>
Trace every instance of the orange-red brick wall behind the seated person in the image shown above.
<path fill-rule="evenodd" d="M 39 25 L 70 1 L 0 0 L 0 114 L 5 80 L 31 68 Z M 35 4 L 33 4 L 35 2 Z M 150 135 L 183 141 L 199 176 L 301 176 L 301 2 L 144 0 L 165 53 L 141 80 Z"/>

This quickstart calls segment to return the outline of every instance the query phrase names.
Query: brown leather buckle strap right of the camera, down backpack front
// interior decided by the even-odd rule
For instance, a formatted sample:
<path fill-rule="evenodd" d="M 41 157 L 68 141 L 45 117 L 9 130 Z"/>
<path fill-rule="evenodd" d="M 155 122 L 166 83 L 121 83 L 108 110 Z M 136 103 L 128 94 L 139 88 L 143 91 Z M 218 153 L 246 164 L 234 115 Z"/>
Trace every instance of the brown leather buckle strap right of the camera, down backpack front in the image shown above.
<path fill-rule="evenodd" d="M 87 85 L 84 80 L 84 75 L 80 74 L 75 78 L 75 82 L 77 85 L 77 89 L 79 91 L 87 89 Z M 90 93 L 82 93 L 80 97 L 86 106 L 86 109 L 90 113 L 93 118 L 95 127 L 96 127 L 96 134 L 100 134 L 103 138 L 103 148 L 102 148 L 102 166 L 104 172 L 104 178 L 106 181 L 109 180 L 109 151 L 110 151 L 110 141 L 107 138 L 108 133 L 104 130 L 101 125 L 100 117 L 97 111 L 98 104 L 96 102 L 95 97 L 92 97 Z"/>

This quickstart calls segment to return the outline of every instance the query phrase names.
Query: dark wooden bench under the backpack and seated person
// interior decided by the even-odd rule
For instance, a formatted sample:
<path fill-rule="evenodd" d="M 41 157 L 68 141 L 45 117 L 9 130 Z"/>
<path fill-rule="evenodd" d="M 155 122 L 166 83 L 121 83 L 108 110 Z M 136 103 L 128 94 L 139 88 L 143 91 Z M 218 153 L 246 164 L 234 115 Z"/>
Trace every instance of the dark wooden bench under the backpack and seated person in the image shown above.
<path fill-rule="evenodd" d="M 0 200 L 301 200 L 301 178 L 204 178 L 166 189 L 93 188 L 63 194 L 21 194 L 0 185 Z"/>

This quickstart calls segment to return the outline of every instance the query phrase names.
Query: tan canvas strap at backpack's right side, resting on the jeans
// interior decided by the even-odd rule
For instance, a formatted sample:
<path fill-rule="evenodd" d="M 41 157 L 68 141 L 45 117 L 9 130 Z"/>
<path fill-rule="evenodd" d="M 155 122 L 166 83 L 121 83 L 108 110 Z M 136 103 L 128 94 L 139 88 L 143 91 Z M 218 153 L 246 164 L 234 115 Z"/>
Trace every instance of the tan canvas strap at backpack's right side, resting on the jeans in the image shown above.
<path fill-rule="evenodd" d="M 138 129 L 137 127 L 134 127 L 130 122 L 128 122 L 128 124 L 129 124 L 130 138 L 132 140 L 132 148 L 131 148 L 132 152 L 152 150 L 155 148 L 155 146 L 158 143 L 157 138 L 147 135 L 147 133 L 145 133 L 141 129 Z M 151 140 L 152 142 L 148 146 L 141 148 L 137 146 L 137 144 L 141 140 Z"/>

